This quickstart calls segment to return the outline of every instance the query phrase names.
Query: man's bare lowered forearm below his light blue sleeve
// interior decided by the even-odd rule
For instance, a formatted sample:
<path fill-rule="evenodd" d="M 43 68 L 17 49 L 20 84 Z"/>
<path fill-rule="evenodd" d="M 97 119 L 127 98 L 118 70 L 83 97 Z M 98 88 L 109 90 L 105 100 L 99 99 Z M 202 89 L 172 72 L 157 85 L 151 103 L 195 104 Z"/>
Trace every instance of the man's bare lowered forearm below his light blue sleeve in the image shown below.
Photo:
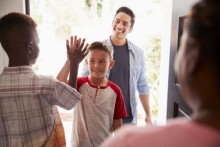
<path fill-rule="evenodd" d="M 145 122 L 147 124 L 152 125 L 149 95 L 148 94 L 143 94 L 143 95 L 139 95 L 139 97 L 140 97 L 140 101 L 142 103 L 142 106 L 144 108 L 145 115 L 146 115 Z"/>

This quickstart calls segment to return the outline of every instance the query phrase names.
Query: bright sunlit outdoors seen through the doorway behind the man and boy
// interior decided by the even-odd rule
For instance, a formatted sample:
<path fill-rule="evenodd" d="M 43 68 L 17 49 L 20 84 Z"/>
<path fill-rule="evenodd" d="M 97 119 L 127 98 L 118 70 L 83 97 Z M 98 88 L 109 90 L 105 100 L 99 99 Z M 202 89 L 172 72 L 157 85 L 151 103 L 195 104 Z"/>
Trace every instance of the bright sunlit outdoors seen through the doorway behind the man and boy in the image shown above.
<path fill-rule="evenodd" d="M 41 48 L 40 57 L 34 67 L 40 74 L 50 74 L 55 77 L 66 60 L 66 39 L 71 35 L 82 36 L 88 42 L 106 39 L 111 34 L 111 23 L 116 9 L 123 5 L 130 7 L 136 14 L 136 21 L 128 39 L 146 51 L 153 122 L 160 123 L 158 105 L 161 80 L 161 32 L 164 29 L 162 0 L 109 0 L 102 3 L 89 1 L 91 2 L 89 4 L 81 0 L 31 0 L 29 2 L 29 13 L 38 24 Z M 163 64 L 163 67 L 166 66 Z M 166 95 L 163 99 L 165 97 Z M 138 105 L 138 126 L 143 126 L 145 125 L 144 111 L 139 99 Z M 59 111 L 68 143 L 71 136 L 72 111 L 61 108 Z"/>

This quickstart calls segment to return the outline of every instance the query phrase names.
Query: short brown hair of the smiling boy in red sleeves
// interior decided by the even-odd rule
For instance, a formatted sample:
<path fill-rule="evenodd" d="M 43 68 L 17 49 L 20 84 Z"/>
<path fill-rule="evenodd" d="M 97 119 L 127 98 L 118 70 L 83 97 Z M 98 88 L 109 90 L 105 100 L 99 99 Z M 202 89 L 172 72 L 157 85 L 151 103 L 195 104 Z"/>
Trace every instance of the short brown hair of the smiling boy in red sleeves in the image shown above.
<path fill-rule="evenodd" d="M 105 45 L 104 43 L 100 42 L 100 41 L 95 41 L 93 43 L 91 43 L 88 47 L 88 50 L 89 51 L 92 51 L 92 50 L 102 50 L 102 51 L 105 51 L 109 54 L 110 56 L 110 59 L 112 60 L 113 59 L 113 49 L 107 45 Z"/>

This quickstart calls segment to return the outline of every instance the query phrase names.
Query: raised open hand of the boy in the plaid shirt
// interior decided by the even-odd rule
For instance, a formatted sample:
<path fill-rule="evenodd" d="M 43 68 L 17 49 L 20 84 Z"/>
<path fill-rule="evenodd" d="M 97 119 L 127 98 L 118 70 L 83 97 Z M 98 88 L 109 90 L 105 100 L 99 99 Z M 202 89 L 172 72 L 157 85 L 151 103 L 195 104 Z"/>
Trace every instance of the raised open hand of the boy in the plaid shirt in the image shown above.
<path fill-rule="evenodd" d="M 79 64 L 87 55 L 88 44 L 85 45 L 84 39 L 77 39 L 77 36 L 71 36 L 70 41 L 66 40 L 68 59 L 74 64 Z"/>

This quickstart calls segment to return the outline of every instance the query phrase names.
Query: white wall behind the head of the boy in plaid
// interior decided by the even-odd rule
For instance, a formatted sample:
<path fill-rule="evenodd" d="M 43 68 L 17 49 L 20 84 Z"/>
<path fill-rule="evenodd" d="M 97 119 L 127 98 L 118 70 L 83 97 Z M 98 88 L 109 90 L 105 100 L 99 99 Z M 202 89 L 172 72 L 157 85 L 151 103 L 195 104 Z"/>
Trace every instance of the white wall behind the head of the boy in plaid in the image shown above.
<path fill-rule="evenodd" d="M 24 0 L 0 0 L 0 17 L 9 12 L 25 13 Z M 0 73 L 8 65 L 8 57 L 0 45 Z"/>

